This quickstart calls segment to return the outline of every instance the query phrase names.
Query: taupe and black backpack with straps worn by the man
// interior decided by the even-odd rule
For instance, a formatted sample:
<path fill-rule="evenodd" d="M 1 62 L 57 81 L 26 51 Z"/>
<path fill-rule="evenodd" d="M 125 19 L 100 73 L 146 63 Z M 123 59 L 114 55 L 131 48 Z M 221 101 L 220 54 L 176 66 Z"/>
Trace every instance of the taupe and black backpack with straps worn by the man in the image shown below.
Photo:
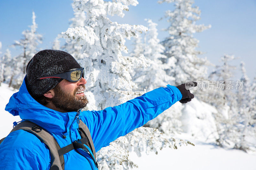
<path fill-rule="evenodd" d="M 63 155 L 65 153 L 68 153 L 69 151 L 72 151 L 73 149 L 83 149 L 85 152 L 87 152 L 92 160 L 94 161 L 96 167 L 98 168 L 98 164 L 95 161 L 94 158 L 96 158 L 96 152 L 94 149 L 94 145 L 92 142 L 92 137 L 90 134 L 90 131 L 88 127 L 79 120 L 79 134 L 81 135 L 82 139 L 78 139 L 74 141 L 72 144 L 69 144 L 63 148 L 60 148 L 60 145 L 57 143 L 57 141 L 54 139 L 52 135 L 50 135 L 45 129 L 42 127 L 38 126 L 37 124 L 30 122 L 30 121 L 23 121 L 20 122 L 18 125 L 16 125 L 11 132 L 16 131 L 16 130 L 25 130 L 29 133 L 34 134 L 36 137 L 40 139 L 41 142 L 43 142 L 48 148 L 50 149 L 51 153 L 51 167 L 50 170 L 64 170 L 64 157 Z M 10 133 L 11 133 L 10 132 Z M 0 140 L 0 144 L 4 141 L 5 137 Z M 93 152 L 92 154 L 88 151 L 88 149 L 84 146 L 86 144 Z M 79 153 L 79 152 L 78 152 Z"/>

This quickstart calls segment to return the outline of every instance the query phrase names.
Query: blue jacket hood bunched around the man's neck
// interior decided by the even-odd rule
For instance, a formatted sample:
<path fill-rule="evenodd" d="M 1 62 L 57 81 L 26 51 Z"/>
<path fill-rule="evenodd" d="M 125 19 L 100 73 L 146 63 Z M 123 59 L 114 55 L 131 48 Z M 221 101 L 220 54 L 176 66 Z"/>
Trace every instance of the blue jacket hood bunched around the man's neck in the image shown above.
<path fill-rule="evenodd" d="M 26 76 L 19 92 L 12 95 L 5 110 L 14 116 L 19 115 L 22 120 L 34 122 L 50 132 L 67 135 L 77 112 L 61 113 L 41 105 L 29 94 L 25 80 Z M 77 129 L 78 124 L 74 123 L 71 128 Z"/>

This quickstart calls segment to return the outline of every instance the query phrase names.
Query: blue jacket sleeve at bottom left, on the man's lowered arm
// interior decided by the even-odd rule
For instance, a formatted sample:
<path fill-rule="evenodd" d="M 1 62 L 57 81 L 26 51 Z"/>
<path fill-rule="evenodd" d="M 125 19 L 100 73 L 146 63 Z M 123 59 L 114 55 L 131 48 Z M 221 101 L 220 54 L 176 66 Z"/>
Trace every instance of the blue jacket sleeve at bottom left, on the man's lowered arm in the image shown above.
<path fill-rule="evenodd" d="M 18 133 L 19 131 L 19 133 Z M 35 135 L 17 130 L 0 144 L 0 169 L 49 170 L 50 151 Z"/>

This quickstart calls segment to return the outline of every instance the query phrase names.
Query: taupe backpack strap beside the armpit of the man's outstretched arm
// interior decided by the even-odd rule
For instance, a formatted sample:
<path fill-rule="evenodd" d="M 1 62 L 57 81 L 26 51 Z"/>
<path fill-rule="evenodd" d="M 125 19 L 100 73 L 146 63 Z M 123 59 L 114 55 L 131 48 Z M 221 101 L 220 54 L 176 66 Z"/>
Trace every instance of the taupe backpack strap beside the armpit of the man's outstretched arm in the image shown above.
<path fill-rule="evenodd" d="M 90 133 L 88 127 L 80 119 L 79 119 L 78 129 L 79 129 L 79 133 L 80 133 L 82 139 L 87 138 L 89 140 L 89 142 L 85 143 L 85 144 L 92 150 L 93 156 L 96 159 L 96 152 L 95 152 L 95 148 L 94 148 L 94 145 L 93 145 L 91 133 Z"/>

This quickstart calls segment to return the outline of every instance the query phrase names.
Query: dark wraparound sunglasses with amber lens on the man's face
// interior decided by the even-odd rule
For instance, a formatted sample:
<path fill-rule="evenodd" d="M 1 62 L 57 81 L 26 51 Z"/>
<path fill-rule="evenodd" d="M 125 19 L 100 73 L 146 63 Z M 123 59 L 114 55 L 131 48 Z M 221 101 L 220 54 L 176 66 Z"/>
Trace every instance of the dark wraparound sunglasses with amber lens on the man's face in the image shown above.
<path fill-rule="evenodd" d="M 81 67 L 80 69 L 71 69 L 68 70 L 65 73 L 61 73 L 61 74 L 54 74 L 54 75 L 50 75 L 50 76 L 44 76 L 44 77 L 39 77 L 37 79 L 44 79 L 44 78 L 63 78 L 66 79 L 70 82 L 76 82 L 81 80 L 81 78 L 84 78 L 84 68 Z"/>

